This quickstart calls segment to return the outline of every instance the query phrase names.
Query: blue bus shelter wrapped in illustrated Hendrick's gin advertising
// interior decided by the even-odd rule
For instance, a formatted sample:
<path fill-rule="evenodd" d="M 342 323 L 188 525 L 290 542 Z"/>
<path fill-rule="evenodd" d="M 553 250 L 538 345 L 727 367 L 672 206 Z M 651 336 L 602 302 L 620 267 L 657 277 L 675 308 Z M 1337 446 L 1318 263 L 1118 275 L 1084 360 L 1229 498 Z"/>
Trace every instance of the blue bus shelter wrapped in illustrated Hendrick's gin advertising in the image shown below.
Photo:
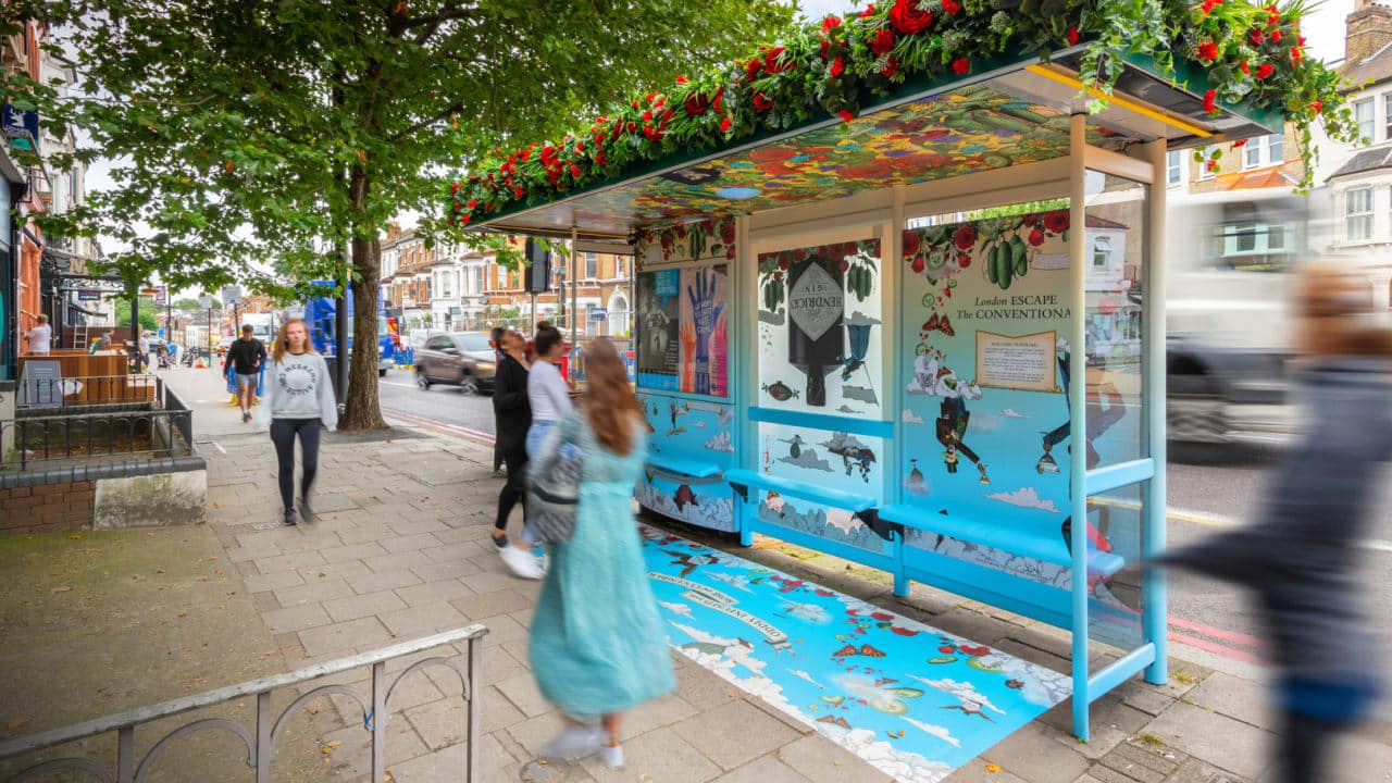
<path fill-rule="evenodd" d="M 870 24 L 902 35 L 892 14 Z M 1215 104 L 1185 52 L 1183 81 L 1114 53 L 1098 110 L 1069 36 L 557 187 L 558 149 L 635 130 L 600 117 L 498 169 L 540 157 L 550 189 L 486 205 L 475 177 L 454 208 L 470 228 L 636 256 L 643 507 L 1070 631 L 1087 738 L 1100 695 L 1166 679 L 1165 584 L 1144 567 L 1165 545 L 1166 153 L 1281 132 L 1285 116 Z M 818 53 L 766 47 L 736 68 L 785 57 L 816 68 Z M 710 109 L 685 95 L 633 109 Z"/>

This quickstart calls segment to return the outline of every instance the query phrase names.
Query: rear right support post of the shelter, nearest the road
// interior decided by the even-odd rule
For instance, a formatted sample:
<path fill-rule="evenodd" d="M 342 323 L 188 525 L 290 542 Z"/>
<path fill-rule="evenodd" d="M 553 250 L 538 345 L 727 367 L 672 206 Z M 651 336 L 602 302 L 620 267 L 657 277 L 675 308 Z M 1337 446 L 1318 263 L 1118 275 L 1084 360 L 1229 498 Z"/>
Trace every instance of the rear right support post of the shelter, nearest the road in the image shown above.
<path fill-rule="evenodd" d="M 1153 170 L 1165 171 L 1165 139 L 1146 145 Z M 1144 313 L 1144 392 L 1146 444 L 1155 464 L 1155 475 L 1146 485 L 1144 535 L 1141 538 L 1141 559 L 1150 560 L 1165 549 L 1165 185 L 1153 183 L 1148 189 L 1148 223 L 1146 228 L 1147 252 L 1141 274 L 1146 297 Z M 1146 667 L 1146 681 L 1164 684 L 1169 666 L 1169 607 L 1165 595 L 1165 575 L 1157 568 L 1146 568 L 1141 574 L 1141 596 L 1144 600 L 1141 621 L 1146 639 L 1154 645 L 1155 660 Z"/>

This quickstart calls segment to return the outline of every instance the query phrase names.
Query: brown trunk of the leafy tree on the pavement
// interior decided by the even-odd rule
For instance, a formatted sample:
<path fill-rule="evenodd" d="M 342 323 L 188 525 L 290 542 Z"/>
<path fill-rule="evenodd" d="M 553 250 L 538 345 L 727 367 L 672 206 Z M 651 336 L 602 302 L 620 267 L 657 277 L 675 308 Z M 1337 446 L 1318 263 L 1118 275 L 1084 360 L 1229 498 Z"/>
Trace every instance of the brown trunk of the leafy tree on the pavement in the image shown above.
<path fill-rule="evenodd" d="M 362 212 L 367 195 L 367 176 L 354 167 L 349 195 L 355 210 Z M 356 223 L 355 224 L 362 224 Z M 377 295 L 381 279 L 381 242 L 376 238 L 352 240 L 352 364 L 348 369 L 348 394 L 338 429 L 386 429 L 377 397 Z"/>

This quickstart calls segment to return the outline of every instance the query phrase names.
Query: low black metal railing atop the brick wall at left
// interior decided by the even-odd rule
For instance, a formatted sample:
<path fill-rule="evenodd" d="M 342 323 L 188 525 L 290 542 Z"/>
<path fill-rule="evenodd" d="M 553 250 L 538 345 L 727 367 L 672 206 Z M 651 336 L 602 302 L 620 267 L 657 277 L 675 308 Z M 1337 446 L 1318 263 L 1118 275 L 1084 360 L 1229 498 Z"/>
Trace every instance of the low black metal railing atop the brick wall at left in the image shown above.
<path fill-rule="evenodd" d="M 22 414 L 0 426 L 14 431 L 15 454 L 6 456 L 6 463 L 18 464 L 19 470 L 47 467 L 60 460 L 128 461 L 193 454 L 193 411 L 182 403 L 178 410 Z"/>

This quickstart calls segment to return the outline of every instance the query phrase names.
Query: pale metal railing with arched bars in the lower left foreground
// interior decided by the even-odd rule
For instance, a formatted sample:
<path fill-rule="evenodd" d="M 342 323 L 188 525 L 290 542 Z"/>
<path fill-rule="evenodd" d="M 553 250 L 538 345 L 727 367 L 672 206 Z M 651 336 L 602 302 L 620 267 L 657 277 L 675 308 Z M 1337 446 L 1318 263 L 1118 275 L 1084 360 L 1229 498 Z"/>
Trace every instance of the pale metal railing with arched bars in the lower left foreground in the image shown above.
<path fill-rule="evenodd" d="M 351 658 L 341 658 L 338 660 L 331 660 L 329 663 L 320 663 L 317 666 L 306 666 L 287 674 L 273 674 L 270 677 L 262 677 L 259 680 L 251 680 L 249 683 L 242 683 L 239 685 L 228 685 L 226 688 L 219 688 L 214 691 L 207 691 L 203 694 L 185 697 L 181 699 L 167 701 L 163 704 L 156 704 L 150 706 L 142 706 L 138 709 L 131 709 L 127 712 L 120 712 L 116 715 L 109 715 L 106 718 L 97 718 L 96 720 L 88 720 L 85 723 L 75 723 L 72 726 L 65 726 L 63 729 L 54 729 L 52 731 L 43 731 L 40 734 L 33 734 L 29 737 L 19 737 L 6 743 L 0 743 L 0 761 L 7 761 L 15 757 L 43 751 L 67 743 L 74 743 L 78 740 L 85 740 L 88 737 L 96 737 L 99 734 L 107 734 L 116 731 L 117 736 L 117 757 L 116 757 L 116 775 L 111 775 L 109 766 L 103 766 L 88 758 L 67 757 L 56 758 L 45 762 L 28 766 L 10 777 L 10 783 L 22 783 L 24 780 L 33 780 L 42 775 L 58 769 L 74 769 L 78 772 L 85 772 L 95 780 L 102 780 L 104 783 L 142 783 L 150 776 L 155 769 L 155 762 L 159 761 L 164 750 L 182 737 L 198 731 L 206 730 L 224 730 L 235 734 L 242 744 L 246 747 L 246 766 L 255 770 L 253 780 L 256 783 L 270 783 L 271 762 L 276 758 L 276 745 L 280 743 L 281 736 L 290 722 L 292 713 L 309 701 L 326 697 L 330 694 L 345 695 L 358 702 L 363 712 L 363 726 L 372 731 L 372 777 L 370 780 L 383 780 L 387 770 L 387 720 L 391 716 L 393 697 L 398 694 L 401 683 L 415 674 L 420 669 L 429 666 L 445 666 L 452 669 L 459 674 L 459 680 L 464 685 L 464 699 L 468 702 L 466 711 L 466 729 L 465 729 L 465 769 L 464 780 L 465 783 L 479 780 L 479 729 L 480 729 L 480 701 L 475 698 L 477 694 L 477 687 L 480 683 L 480 666 L 483 660 L 483 635 L 489 630 L 484 626 L 469 626 L 465 628 L 457 628 L 454 631 L 445 631 L 443 634 L 436 634 L 433 637 L 426 637 L 415 641 L 401 642 L 391 646 L 381 648 L 374 652 L 365 652 L 361 655 L 354 655 Z M 455 660 L 454 658 L 445 656 L 432 656 L 418 660 L 411 665 L 405 672 L 397 676 L 387 685 L 387 662 L 394 658 L 401 658 L 405 655 L 412 655 L 416 652 L 433 649 L 447 644 L 454 644 L 459 641 L 468 642 L 468 653 L 465 655 L 465 665 Z M 330 674 L 337 674 L 340 672 L 347 672 L 349 669 L 358 669 L 361 666 L 372 666 L 372 694 L 362 694 L 358 688 L 351 685 L 327 684 L 319 685 L 302 694 L 294 702 L 290 704 L 280 715 L 273 715 L 270 708 L 271 692 L 277 688 L 285 688 L 290 685 L 298 685 L 301 683 L 308 683 L 309 680 L 316 680 L 319 677 L 326 677 Z M 255 730 L 248 729 L 242 723 L 230 720 L 226 718 L 203 718 L 185 723 L 184 726 L 164 734 L 157 743 L 155 743 L 149 751 L 142 757 L 136 758 L 135 752 L 135 730 L 145 723 L 159 720 L 163 718 L 170 718 L 174 715 L 182 715 L 192 712 L 195 709 L 202 709 L 242 697 L 256 697 L 256 724 Z"/>

